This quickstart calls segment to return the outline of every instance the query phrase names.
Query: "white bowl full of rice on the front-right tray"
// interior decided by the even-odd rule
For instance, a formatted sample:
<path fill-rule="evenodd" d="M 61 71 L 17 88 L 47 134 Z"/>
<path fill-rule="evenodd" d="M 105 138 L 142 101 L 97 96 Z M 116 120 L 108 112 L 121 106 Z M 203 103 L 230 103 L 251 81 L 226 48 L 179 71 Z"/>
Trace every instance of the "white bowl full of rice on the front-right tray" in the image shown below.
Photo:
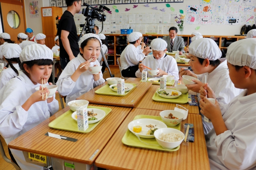
<path fill-rule="evenodd" d="M 174 149 L 178 147 L 185 138 L 185 135 L 172 128 L 161 128 L 154 132 L 157 143 L 164 149 Z"/>

